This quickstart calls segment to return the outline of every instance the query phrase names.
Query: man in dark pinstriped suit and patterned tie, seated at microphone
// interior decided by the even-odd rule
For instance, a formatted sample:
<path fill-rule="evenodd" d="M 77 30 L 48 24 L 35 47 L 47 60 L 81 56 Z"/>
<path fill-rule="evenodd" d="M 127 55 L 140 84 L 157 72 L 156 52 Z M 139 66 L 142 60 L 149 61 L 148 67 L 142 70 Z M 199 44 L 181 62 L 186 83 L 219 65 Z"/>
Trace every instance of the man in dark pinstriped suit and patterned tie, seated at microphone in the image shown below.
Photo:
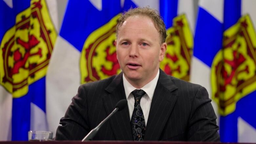
<path fill-rule="evenodd" d="M 159 69 L 167 45 L 155 10 L 136 8 L 117 21 L 117 59 L 122 72 L 81 85 L 61 118 L 56 140 L 81 140 L 127 99 L 94 140 L 219 141 L 216 115 L 205 88 Z"/>

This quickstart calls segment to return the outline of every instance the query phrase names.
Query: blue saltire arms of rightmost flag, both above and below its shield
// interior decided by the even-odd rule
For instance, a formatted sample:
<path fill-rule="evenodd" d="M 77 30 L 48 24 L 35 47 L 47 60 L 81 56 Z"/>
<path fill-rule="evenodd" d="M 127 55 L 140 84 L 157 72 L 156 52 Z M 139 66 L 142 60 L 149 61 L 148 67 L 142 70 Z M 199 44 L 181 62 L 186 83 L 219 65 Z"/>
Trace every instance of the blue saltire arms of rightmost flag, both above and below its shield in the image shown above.
<path fill-rule="evenodd" d="M 194 56 L 209 68 L 218 51 L 223 48 L 223 32 L 236 24 L 241 17 L 241 0 L 224 0 L 223 23 L 218 21 L 207 10 L 199 7 L 194 40 Z M 231 53 L 230 53 L 231 55 Z M 238 117 L 256 128 L 255 105 L 256 92 L 241 98 L 236 103 L 234 112 L 220 116 L 221 142 L 238 141 Z"/>

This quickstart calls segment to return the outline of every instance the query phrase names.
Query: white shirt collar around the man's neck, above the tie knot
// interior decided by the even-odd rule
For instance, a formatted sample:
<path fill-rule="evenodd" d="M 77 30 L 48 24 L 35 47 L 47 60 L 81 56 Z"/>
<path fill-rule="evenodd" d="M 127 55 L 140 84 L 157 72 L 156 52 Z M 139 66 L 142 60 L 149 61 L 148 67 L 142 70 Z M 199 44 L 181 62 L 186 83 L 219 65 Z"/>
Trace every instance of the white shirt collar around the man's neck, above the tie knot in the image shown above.
<path fill-rule="evenodd" d="M 159 78 L 159 70 L 157 72 L 157 75 L 154 79 L 152 79 L 149 83 L 147 83 L 145 86 L 143 86 L 141 88 L 141 90 L 143 90 L 144 92 L 147 93 L 147 95 L 149 96 L 150 100 L 152 100 L 156 86 L 157 86 L 157 81 Z M 132 91 L 136 90 L 136 88 L 134 86 L 132 86 L 127 79 L 125 78 L 124 74 L 123 74 L 123 86 L 124 86 L 124 91 L 125 91 L 125 95 L 126 95 L 126 99 L 128 98 L 128 96 L 130 95 L 130 93 L 132 93 Z"/>

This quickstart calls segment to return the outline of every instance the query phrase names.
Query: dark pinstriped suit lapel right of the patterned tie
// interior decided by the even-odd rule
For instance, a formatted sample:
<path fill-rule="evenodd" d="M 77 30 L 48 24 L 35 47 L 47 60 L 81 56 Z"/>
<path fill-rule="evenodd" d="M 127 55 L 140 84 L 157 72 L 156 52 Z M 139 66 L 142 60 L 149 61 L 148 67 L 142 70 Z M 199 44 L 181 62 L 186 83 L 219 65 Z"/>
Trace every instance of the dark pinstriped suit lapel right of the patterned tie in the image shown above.
<path fill-rule="evenodd" d="M 171 77 L 160 70 L 151 102 L 144 140 L 159 140 L 162 130 L 177 100 L 177 87 Z"/>

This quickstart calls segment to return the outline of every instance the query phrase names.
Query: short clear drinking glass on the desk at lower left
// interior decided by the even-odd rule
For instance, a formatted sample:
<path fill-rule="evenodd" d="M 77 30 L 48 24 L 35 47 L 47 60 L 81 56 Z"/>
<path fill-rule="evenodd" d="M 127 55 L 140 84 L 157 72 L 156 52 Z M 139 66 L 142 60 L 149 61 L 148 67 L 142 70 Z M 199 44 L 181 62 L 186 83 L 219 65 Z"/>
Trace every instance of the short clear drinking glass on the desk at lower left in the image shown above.
<path fill-rule="evenodd" d="M 53 132 L 48 131 L 29 131 L 29 141 L 53 140 Z"/>

